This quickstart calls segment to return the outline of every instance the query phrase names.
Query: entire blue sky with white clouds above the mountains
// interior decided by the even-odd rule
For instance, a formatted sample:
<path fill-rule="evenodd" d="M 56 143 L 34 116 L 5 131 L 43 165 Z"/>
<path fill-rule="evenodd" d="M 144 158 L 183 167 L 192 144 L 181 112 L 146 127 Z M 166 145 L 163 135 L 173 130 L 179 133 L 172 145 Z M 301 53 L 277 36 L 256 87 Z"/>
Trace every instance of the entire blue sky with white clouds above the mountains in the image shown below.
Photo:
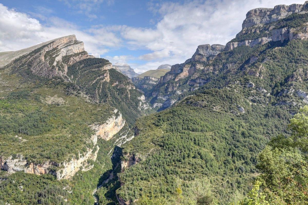
<path fill-rule="evenodd" d="M 225 45 L 246 13 L 298 0 L 0 0 L 0 52 L 75 34 L 85 50 L 137 73 Z"/>

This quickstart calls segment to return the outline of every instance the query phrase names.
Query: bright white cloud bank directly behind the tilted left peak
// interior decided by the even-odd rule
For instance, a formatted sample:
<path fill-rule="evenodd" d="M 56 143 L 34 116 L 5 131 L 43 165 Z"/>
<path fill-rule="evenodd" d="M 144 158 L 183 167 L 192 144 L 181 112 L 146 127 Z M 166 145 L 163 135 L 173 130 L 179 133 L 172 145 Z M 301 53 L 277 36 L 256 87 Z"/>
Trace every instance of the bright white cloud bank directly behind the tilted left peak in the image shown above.
<path fill-rule="evenodd" d="M 80 30 L 78 26 L 57 17 L 46 25 L 29 15 L 0 4 L 0 51 L 19 50 L 51 39 L 75 34 L 85 43 L 85 49 L 99 56 L 110 48 L 117 48 L 121 39 L 108 29 Z"/>

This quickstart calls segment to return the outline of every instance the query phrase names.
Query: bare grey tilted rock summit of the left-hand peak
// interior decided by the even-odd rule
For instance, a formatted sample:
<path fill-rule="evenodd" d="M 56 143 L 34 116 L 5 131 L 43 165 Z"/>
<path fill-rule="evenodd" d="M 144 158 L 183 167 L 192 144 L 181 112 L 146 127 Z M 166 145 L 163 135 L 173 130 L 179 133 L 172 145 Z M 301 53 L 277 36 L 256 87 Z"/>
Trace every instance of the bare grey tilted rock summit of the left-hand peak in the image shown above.
<path fill-rule="evenodd" d="M 90 56 L 84 51 L 83 42 L 77 41 L 75 35 L 57 38 L 43 43 L 40 47 L 38 46 L 9 53 L 8 55 L 13 55 L 14 53 L 18 53 L 18 55 L 23 54 L 14 62 L 12 61 L 14 58 L 11 58 L 10 62 L 13 62 L 15 65 L 13 65 L 14 69 L 20 70 L 26 66 L 33 74 L 41 77 L 51 78 L 59 76 L 69 79 L 67 77 L 67 67 L 69 65 L 85 58 L 94 58 L 94 56 Z M 2 56 L 1 59 L 6 58 L 6 56 Z M 5 63 L 7 63 L 7 60 L 3 60 L 2 65 Z"/>

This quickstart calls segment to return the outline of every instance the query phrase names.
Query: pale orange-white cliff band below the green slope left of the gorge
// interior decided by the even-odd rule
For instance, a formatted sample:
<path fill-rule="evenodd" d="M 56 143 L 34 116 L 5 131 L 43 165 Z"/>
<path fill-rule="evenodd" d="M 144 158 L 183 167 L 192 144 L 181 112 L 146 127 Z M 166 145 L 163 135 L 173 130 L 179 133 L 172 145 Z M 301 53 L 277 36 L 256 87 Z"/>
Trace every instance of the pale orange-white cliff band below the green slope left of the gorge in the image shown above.
<path fill-rule="evenodd" d="M 24 156 L 17 155 L 16 157 L 10 156 L 4 159 L 0 156 L 0 169 L 6 170 L 9 173 L 16 171 L 24 171 L 29 174 L 52 174 L 57 179 L 68 179 L 75 175 L 81 168 L 83 171 L 91 169 L 93 166 L 88 164 L 88 160 L 96 160 L 99 146 L 97 145 L 98 137 L 105 140 L 111 139 L 113 135 L 120 131 L 125 124 L 125 120 L 122 118 L 122 114 L 117 109 L 114 111 L 114 115 L 109 118 L 104 124 L 92 125 L 95 130 L 95 134 L 91 136 L 92 148 L 87 148 L 87 152 L 80 153 L 79 156 L 73 156 L 70 160 L 56 163 L 52 161 L 44 162 L 43 164 L 29 163 Z M 95 151 L 94 151 L 95 150 Z M 53 169 L 56 167 L 56 169 Z"/>

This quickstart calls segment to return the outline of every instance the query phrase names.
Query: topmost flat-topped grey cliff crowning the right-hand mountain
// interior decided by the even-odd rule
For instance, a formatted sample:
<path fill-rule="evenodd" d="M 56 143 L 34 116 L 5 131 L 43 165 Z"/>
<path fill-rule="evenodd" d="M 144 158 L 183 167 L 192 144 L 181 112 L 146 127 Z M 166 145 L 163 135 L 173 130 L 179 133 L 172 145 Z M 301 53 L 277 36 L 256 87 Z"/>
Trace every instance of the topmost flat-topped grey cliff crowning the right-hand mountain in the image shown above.
<path fill-rule="evenodd" d="M 299 13 L 307 8 L 308 2 L 302 4 L 277 5 L 274 8 L 257 8 L 250 10 L 246 14 L 246 19 L 242 24 L 242 28 L 252 27 L 258 24 L 265 24 L 278 21 L 293 13 Z"/>

